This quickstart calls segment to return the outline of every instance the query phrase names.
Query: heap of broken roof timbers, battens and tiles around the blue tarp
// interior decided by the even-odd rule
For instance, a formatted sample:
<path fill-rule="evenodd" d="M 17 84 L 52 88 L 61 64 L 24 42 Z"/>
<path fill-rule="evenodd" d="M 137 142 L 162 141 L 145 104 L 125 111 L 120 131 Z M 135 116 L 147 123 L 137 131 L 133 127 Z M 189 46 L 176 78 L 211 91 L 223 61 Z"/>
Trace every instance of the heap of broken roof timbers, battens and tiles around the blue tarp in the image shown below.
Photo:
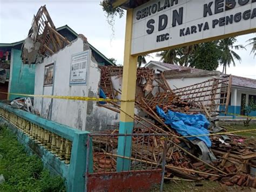
<path fill-rule="evenodd" d="M 122 68 L 102 67 L 101 88 L 109 98 L 120 98 L 122 90 L 114 88 L 112 81 L 122 82 Z M 167 134 L 167 145 L 161 137 L 148 136 L 144 138 L 142 152 L 138 152 L 138 139 L 132 137 L 132 155 L 134 158 L 149 165 L 159 165 L 166 150 L 165 177 L 178 176 L 189 180 L 218 180 L 228 186 L 256 187 L 256 179 L 252 176 L 256 170 L 256 143 L 254 139 L 247 139 L 234 134 L 220 134 L 226 132 L 216 126 L 217 116 L 226 112 L 230 99 L 231 77 L 221 75 L 213 79 L 194 84 L 192 86 L 171 89 L 163 74 L 154 74 L 151 69 L 138 69 L 136 88 L 136 108 L 140 113 L 134 116 L 133 133 L 164 133 Z M 119 103 L 101 105 L 107 109 L 120 112 Z M 170 125 L 165 123 L 157 113 L 156 106 L 165 112 L 168 110 L 193 115 L 203 113 L 210 121 L 208 131 L 211 133 L 211 147 L 207 147 L 200 139 L 183 137 Z M 143 115 L 142 115 L 143 114 Z M 117 127 L 116 127 L 117 128 Z M 117 128 L 118 129 L 118 128 Z M 118 130 L 105 130 L 104 133 L 118 133 Z M 218 133 L 218 134 L 214 134 Z M 93 143 L 106 147 L 104 138 L 97 138 Z M 105 144 L 104 144 L 105 143 Z M 113 152 L 117 150 L 118 136 L 111 139 L 111 148 L 99 149 L 94 157 L 95 169 L 111 170 L 116 168 Z M 112 155 L 112 156 L 111 156 Z M 136 157 L 135 157 L 136 155 Z M 106 160 L 107 159 L 107 160 Z"/>

